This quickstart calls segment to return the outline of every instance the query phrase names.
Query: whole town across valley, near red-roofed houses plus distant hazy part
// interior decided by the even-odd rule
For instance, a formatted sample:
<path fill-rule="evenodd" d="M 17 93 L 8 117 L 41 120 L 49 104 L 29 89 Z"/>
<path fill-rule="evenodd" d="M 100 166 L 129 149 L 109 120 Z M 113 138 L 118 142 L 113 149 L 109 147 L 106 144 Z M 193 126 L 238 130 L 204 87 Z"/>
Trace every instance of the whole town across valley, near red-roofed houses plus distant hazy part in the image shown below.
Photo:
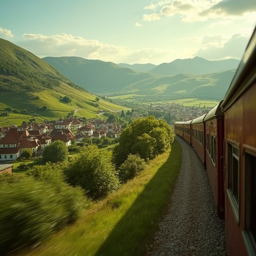
<path fill-rule="evenodd" d="M 131 111 L 126 112 L 125 119 L 130 122 L 132 118 L 154 115 L 156 118 L 164 118 L 171 125 L 174 121 L 192 119 L 207 111 L 207 108 L 188 107 L 176 103 L 155 103 L 142 107 L 134 105 Z M 44 147 L 54 140 L 61 140 L 66 146 L 70 146 L 86 138 L 116 139 L 121 129 L 121 123 L 114 119 L 85 120 L 76 116 L 45 120 L 42 123 L 23 122 L 15 127 L 0 127 L 0 161 L 16 160 L 24 151 L 29 152 L 31 156 L 40 156 Z"/>

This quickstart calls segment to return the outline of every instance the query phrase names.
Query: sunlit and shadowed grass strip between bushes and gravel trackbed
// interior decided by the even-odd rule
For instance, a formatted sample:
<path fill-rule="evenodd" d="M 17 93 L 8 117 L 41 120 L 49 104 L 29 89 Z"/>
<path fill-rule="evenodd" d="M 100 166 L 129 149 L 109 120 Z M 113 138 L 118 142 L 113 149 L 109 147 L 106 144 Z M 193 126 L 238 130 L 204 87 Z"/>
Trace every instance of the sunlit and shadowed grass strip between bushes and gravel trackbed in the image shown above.
<path fill-rule="evenodd" d="M 95 203 L 73 225 L 22 255 L 144 255 L 163 216 L 181 164 L 181 148 L 150 161 L 121 189 Z"/>

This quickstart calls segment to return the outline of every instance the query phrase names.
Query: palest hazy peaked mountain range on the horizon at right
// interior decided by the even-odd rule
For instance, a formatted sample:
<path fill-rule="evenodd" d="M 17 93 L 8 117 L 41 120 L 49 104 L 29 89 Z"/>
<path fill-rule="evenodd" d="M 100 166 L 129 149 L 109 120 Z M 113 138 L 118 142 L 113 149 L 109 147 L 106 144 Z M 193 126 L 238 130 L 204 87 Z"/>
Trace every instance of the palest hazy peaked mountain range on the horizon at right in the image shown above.
<path fill-rule="evenodd" d="M 179 73 L 204 74 L 224 70 L 236 69 L 239 60 L 234 58 L 223 60 L 206 60 L 201 57 L 175 59 L 170 63 L 162 63 L 148 72 L 160 75 L 173 75 Z"/>

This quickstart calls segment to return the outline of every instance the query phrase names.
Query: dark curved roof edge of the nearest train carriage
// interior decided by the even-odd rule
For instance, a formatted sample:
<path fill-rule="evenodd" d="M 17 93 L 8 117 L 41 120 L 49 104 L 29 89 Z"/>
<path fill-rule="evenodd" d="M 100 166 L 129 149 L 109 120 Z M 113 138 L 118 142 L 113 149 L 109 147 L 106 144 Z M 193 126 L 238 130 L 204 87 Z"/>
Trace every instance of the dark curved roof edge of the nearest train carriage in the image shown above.
<path fill-rule="evenodd" d="M 256 79 L 256 27 L 244 51 L 239 66 L 225 94 L 221 108 L 225 111 Z"/>

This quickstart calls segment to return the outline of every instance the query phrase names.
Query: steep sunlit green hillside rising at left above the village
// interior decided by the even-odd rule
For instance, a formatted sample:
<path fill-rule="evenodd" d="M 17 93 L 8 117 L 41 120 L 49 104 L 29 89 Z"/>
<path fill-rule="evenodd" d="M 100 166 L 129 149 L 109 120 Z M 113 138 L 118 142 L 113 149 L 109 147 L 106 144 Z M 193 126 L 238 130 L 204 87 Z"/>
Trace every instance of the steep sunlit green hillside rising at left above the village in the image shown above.
<path fill-rule="evenodd" d="M 0 39 L 0 48 L 0 126 L 19 125 L 31 118 L 37 121 L 63 118 L 68 113 L 91 118 L 100 111 L 123 108 L 102 98 L 96 102 L 97 96 L 9 41 Z M 64 96 L 70 97 L 71 102 L 64 102 Z"/>

